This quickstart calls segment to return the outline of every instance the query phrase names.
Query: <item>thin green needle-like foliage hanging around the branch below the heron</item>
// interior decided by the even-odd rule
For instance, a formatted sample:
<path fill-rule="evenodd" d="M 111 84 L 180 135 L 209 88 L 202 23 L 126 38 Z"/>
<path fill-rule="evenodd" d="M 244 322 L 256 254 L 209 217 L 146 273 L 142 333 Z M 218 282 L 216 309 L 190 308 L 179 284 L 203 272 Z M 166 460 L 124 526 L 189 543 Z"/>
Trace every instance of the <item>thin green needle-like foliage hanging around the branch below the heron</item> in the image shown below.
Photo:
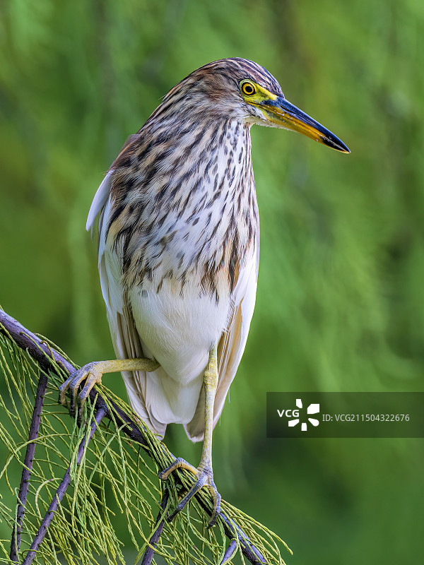
<path fill-rule="evenodd" d="M 0 520 L 6 521 L 10 531 L 13 522 L 16 523 L 20 472 L 28 445 L 40 371 L 29 355 L 11 340 L 0 336 L 0 378 L 4 380 L 7 391 L 0 397 L 0 436 L 8 453 L 0 472 Z M 59 366 L 57 371 L 61 374 Z M 148 447 L 141 448 L 131 441 L 112 417 L 107 424 L 105 421 L 100 424 L 88 444 L 86 441 L 81 463 L 78 464 L 78 446 L 84 438 L 88 439 L 95 416 L 94 407 L 88 405 L 85 408 L 85 424 L 78 428 L 76 420 L 57 404 L 57 387 L 62 381 L 59 376 L 49 374 L 25 504 L 19 559 L 22 561 L 28 552 L 40 521 L 69 467 L 71 485 L 59 504 L 34 562 L 59 564 L 65 561 L 81 565 L 139 563 L 160 522 L 157 521 L 159 512 L 162 512 L 160 516 L 164 516 L 175 506 L 181 489 L 175 477 L 170 477 L 166 483 L 158 479 L 158 472 L 172 463 L 173 456 L 165 444 L 137 419 L 128 405 L 100 386 L 103 396 L 114 400 L 143 429 Z M 179 478 L 184 489 L 192 484 L 192 476 L 187 471 L 180 472 Z M 165 489 L 169 489 L 170 496 L 162 511 L 160 501 Z M 200 496 L 203 506 L 211 509 L 208 492 L 202 491 Z M 225 501 L 223 512 L 234 530 L 237 528 L 239 535 L 249 539 L 267 563 L 284 564 L 280 548 L 285 543 L 280 537 Z M 228 539 L 222 521 L 218 520 L 214 528 L 206 527 L 209 518 L 199 500 L 193 499 L 172 523 L 165 523 L 155 548 L 155 562 L 184 565 L 220 563 L 228 547 Z M 127 539 L 129 534 L 132 548 L 124 547 L 121 541 L 123 530 L 127 530 L 124 536 Z M 10 563 L 9 549 L 10 540 L 0 540 L 0 563 Z M 238 538 L 237 549 L 232 562 L 245 563 Z M 131 559 L 127 557 L 129 554 Z"/>

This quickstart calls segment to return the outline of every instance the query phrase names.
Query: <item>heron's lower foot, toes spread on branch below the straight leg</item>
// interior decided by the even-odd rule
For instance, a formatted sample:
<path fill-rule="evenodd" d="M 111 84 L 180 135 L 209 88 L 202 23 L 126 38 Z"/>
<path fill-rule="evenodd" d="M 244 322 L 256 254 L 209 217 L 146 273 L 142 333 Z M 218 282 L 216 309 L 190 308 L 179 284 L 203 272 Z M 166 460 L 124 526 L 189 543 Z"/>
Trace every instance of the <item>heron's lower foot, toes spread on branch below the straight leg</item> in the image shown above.
<path fill-rule="evenodd" d="M 218 517 L 218 513 L 220 512 L 220 500 L 221 500 L 221 496 L 218 492 L 218 489 L 216 488 L 216 484 L 213 482 L 213 472 L 211 465 L 200 464 L 199 468 L 196 469 L 193 465 L 187 463 L 186 460 L 179 457 L 175 459 L 172 465 L 170 465 L 169 467 L 167 467 L 166 469 L 164 469 L 159 473 L 159 478 L 164 481 L 167 480 L 167 477 L 169 477 L 172 471 L 175 471 L 175 469 L 186 469 L 187 471 L 192 472 L 193 475 L 195 475 L 196 477 L 196 482 L 194 483 L 193 487 L 189 490 L 189 492 L 187 492 L 184 498 L 179 501 L 179 503 L 175 507 L 175 510 L 172 512 L 172 514 L 170 514 L 170 516 L 168 516 L 167 521 L 171 522 L 175 518 L 177 513 L 181 512 L 182 509 L 184 509 L 184 507 L 193 498 L 196 492 L 199 492 L 199 490 L 201 490 L 203 487 L 206 487 L 208 491 L 211 493 L 213 499 L 213 512 L 212 512 L 211 520 L 209 521 L 208 524 L 209 528 L 211 528 L 215 524 L 216 518 Z"/>

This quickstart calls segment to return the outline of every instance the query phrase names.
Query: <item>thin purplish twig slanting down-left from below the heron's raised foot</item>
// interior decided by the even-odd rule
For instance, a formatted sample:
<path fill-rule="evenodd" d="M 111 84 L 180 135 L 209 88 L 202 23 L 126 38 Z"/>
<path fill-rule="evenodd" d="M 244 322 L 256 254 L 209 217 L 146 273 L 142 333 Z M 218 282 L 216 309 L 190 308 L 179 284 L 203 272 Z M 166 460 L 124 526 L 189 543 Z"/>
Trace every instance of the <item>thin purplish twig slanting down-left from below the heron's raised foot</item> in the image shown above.
<path fill-rule="evenodd" d="M 106 406 L 102 406 L 98 409 L 95 414 L 95 419 L 91 422 L 91 429 L 90 435 L 87 439 L 87 445 L 90 443 L 90 439 L 93 437 L 95 430 L 97 429 L 100 421 L 105 417 L 107 413 Z M 86 446 L 86 438 L 81 441 L 81 444 L 78 447 L 78 457 L 76 459 L 76 464 L 79 465 L 81 463 L 81 459 L 83 458 L 84 448 Z M 49 525 L 52 523 L 54 518 L 54 513 L 57 511 L 57 508 L 63 499 L 66 489 L 71 484 L 71 466 L 69 466 L 65 472 L 64 478 L 61 480 L 59 487 L 57 487 L 57 491 L 54 493 L 53 500 L 50 503 L 47 512 L 45 513 L 45 517 L 42 519 L 42 523 L 40 524 L 40 528 L 37 531 L 37 534 L 34 537 L 33 543 L 23 560 L 22 565 L 30 565 L 33 562 L 33 559 L 36 555 L 37 549 L 40 547 L 42 540 L 44 540 L 45 535 L 47 533 L 47 529 Z"/>

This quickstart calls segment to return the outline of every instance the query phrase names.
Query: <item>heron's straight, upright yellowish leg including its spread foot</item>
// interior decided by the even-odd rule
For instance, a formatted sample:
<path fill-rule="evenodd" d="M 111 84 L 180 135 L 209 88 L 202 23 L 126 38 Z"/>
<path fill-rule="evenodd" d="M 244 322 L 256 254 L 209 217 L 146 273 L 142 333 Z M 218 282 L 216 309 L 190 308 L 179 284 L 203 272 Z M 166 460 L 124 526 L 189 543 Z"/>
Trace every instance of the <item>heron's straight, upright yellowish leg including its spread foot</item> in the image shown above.
<path fill-rule="evenodd" d="M 204 433 L 204 444 L 201 452 L 201 459 L 199 467 L 196 469 L 193 465 L 190 465 L 182 458 L 178 458 L 166 469 L 159 473 L 160 479 L 167 480 L 170 473 L 175 469 L 186 469 L 192 472 L 196 476 L 196 483 L 189 490 L 189 492 L 184 496 L 184 498 L 179 501 L 175 511 L 172 512 L 169 517 L 169 521 L 175 517 L 175 515 L 182 511 L 184 506 L 189 502 L 190 499 L 199 492 L 202 487 L 206 487 L 213 498 L 213 513 L 211 516 L 211 521 L 209 526 L 212 526 L 218 516 L 220 511 L 220 494 L 213 482 L 213 472 L 212 472 L 212 432 L 213 432 L 213 404 L 215 403 L 216 388 L 218 386 L 218 362 L 216 358 L 216 345 L 213 347 L 209 354 L 208 367 L 204 374 L 204 389 L 205 389 L 205 433 Z"/>

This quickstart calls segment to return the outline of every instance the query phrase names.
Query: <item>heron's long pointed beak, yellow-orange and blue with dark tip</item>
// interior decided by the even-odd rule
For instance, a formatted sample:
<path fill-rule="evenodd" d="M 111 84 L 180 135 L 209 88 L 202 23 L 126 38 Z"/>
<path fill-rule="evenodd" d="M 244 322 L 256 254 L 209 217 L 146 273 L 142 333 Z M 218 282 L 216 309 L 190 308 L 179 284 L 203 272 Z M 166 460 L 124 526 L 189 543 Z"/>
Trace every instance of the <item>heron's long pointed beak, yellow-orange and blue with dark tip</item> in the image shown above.
<path fill-rule="evenodd" d="M 264 100 L 260 105 L 266 119 L 285 129 L 293 129 L 303 133 L 319 143 L 324 143 L 332 149 L 342 153 L 351 153 L 349 148 L 328 129 L 302 112 L 301 109 L 290 104 L 283 96 L 276 96 L 275 100 Z"/>

